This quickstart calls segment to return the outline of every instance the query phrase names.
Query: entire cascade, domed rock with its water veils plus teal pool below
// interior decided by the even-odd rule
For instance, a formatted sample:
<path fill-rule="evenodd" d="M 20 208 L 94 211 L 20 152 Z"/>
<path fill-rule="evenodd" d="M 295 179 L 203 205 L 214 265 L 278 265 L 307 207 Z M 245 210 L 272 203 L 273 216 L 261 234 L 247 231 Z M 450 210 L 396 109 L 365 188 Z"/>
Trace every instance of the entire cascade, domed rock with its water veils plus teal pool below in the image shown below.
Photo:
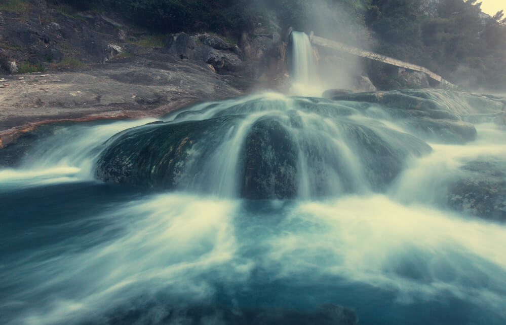
<path fill-rule="evenodd" d="M 49 126 L 0 170 L 2 323 L 503 324 L 506 129 L 419 94 Z"/>

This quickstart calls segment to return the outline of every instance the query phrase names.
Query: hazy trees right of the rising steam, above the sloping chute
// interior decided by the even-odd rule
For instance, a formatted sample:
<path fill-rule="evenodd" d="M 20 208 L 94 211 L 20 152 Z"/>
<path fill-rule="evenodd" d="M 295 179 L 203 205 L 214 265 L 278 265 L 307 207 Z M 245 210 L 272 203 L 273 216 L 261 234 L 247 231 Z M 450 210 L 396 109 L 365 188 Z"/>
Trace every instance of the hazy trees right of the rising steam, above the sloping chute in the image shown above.
<path fill-rule="evenodd" d="M 506 87 L 506 19 L 476 0 L 371 0 L 366 23 L 382 54 L 469 88 Z M 379 71 L 379 74 L 384 71 Z"/>

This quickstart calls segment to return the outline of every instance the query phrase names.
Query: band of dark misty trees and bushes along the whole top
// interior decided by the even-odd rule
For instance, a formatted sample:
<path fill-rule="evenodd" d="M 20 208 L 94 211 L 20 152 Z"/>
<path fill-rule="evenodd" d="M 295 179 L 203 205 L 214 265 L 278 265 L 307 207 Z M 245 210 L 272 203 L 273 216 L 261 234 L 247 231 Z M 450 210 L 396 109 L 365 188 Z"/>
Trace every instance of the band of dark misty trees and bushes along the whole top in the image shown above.
<path fill-rule="evenodd" d="M 489 17 L 476 0 L 50 0 L 57 8 L 111 11 L 153 34 L 133 42 L 163 46 L 168 32 L 216 32 L 236 43 L 243 31 L 296 30 L 359 45 L 425 66 L 469 88 L 506 88 L 506 19 Z M 26 1 L 3 7 L 26 10 Z M 20 5 L 21 4 L 21 5 Z M 24 5 L 23 5 L 24 4 Z M 25 6 L 25 7 L 23 7 Z M 65 7 L 67 6 L 67 7 Z M 25 9 L 23 9 L 25 8 Z M 66 9 L 65 9 L 66 10 Z M 278 29 L 279 30 L 279 29 Z M 372 79 L 395 82 L 385 66 Z M 389 79 L 390 78 L 390 79 Z"/>

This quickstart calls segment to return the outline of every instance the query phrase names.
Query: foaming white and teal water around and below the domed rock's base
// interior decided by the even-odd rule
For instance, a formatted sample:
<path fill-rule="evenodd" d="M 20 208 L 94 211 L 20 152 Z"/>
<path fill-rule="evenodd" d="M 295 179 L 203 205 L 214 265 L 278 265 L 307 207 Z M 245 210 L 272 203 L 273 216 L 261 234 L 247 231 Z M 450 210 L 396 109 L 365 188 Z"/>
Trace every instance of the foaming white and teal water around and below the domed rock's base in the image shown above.
<path fill-rule="evenodd" d="M 69 184 L 100 186 L 91 166 L 108 137 L 151 121 L 58 128 L 29 156 L 33 160 L 0 171 L 0 191 L 32 200 L 23 204 L 42 206 L 35 207 L 39 214 L 23 220 L 50 220 L 66 200 Z M 185 297 L 203 303 L 225 295 L 246 303 L 258 286 L 269 290 L 268 283 L 278 283 L 297 299 L 274 291 L 268 300 L 272 304 L 352 306 L 364 324 L 383 323 L 373 315 L 384 308 L 393 313 L 382 316 L 384 323 L 419 323 L 411 319 L 416 313 L 410 308 L 438 301 L 446 303 L 431 305 L 439 315 L 430 318 L 432 323 L 444 323 L 438 317 L 455 304 L 451 308 L 467 306 L 468 313 L 453 315 L 453 321 L 490 313 L 487 323 L 499 324 L 506 319 L 506 227 L 436 203 L 438 184 L 458 174 L 462 161 L 506 157 L 505 134 L 503 127 L 483 124 L 468 145 L 433 143 L 434 152 L 413 159 L 384 194 L 261 201 L 261 208 L 253 209 L 255 203 L 226 195 L 135 194 L 91 209 L 90 188 L 77 189 L 87 202 L 81 211 L 67 207 L 57 213 L 64 215 L 62 220 L 50 224 L 25 221 L 26 229 L 3 242 L 4 323 L 100 322 L 118 308 L 154 301 L 156 307 L 143 316 L 149 323 L 168 313 L 159 301 Z M 223 153 L 224 161 L 233 154 Z M 230 175 L 222 175 L 216 179 L 219 186 L 229 182 Z M 52 191 L 60 187 L 55 197 Z M 29 214 L 7 199 L 2 202 L 4 211 Z M 61 234 L 38 242 L 48 229 Z M 30 241 L 36 243 L 16 249 Z"/>

